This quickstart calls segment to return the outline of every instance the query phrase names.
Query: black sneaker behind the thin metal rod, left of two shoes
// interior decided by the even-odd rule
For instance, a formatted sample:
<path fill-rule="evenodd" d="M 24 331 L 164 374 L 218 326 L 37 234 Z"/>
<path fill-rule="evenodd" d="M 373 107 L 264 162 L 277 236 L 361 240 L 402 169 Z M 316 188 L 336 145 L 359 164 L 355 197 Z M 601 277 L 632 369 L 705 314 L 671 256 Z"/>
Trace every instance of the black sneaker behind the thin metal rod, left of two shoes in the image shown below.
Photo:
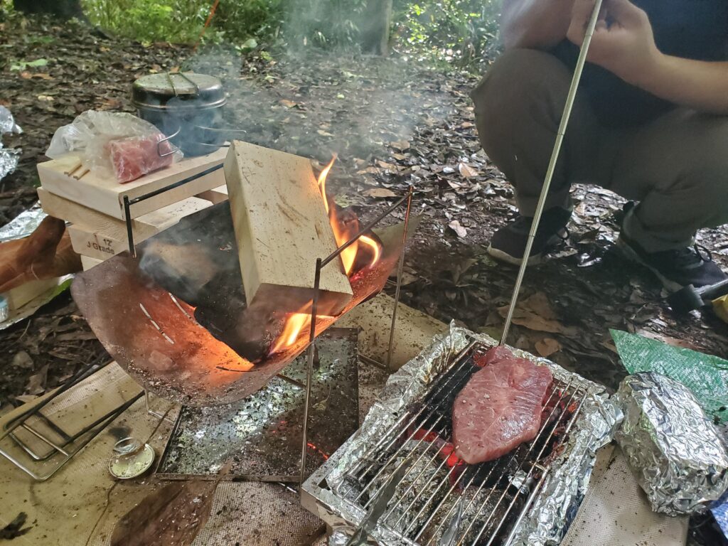
<path fill-rule="evenodd" d="M 561 207 L 553 207 L 544 211 L 536 237 L 534 237 L 534 244 L 531 246 L 529 265 L 539 264 L 546 250 L 566 239 L 568 236 L 566 223 L 569 222 L 569 218 L 571 218 L 571 210 Z M 488 245 L 488 254 L 498 260 L 520 266 L 533 220 L 528 216 L 518 215 L 515 220 L 495 232 L 491 244 Z"/>

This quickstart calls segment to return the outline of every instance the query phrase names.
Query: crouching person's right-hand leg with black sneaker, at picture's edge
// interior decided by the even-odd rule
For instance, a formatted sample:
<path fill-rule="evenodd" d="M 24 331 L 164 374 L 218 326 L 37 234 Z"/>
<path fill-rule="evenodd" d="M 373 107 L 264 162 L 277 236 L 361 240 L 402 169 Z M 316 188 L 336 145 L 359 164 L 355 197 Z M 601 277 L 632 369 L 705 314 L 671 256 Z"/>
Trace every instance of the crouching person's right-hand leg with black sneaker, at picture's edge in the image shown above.
<path fill-rule="evenodd" d="M 638 201 L 625 217 L 622 246 L 668 288 L 723 280 L 717 266 L 688 249 L 697 229 L 728 223 L 728 116 L 678 108 L 620 148 L 610 186 Z"/>

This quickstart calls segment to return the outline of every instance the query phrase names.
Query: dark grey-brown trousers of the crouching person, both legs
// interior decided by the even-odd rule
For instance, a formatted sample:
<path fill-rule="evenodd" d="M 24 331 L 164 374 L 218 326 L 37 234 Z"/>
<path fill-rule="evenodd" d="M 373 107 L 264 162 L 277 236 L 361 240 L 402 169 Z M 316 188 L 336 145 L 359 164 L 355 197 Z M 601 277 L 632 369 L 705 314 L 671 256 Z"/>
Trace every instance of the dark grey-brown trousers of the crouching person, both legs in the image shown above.
<path fill-rule="evenodd" d="M 515 186 L 523 215 L 536 209 L 570 83 L 553 55 L 510 50 L 471 94 L 480 143 Z M 676 108 L 614 129 L 577 92 L 546 208 L 570 207 L 574 182 L 638 201 L 624 229 L 645 250 L 691 245 L 697 229 L 728 223 L 728 116 Z"/>

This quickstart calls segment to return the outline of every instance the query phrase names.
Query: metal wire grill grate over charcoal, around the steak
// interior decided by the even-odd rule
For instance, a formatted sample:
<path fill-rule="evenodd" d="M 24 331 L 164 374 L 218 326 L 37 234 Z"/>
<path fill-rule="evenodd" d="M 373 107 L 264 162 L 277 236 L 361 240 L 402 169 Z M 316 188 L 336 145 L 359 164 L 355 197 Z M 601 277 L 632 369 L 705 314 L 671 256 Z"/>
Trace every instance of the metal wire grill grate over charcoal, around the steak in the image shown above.
<path fill-rule="evenodd" d="M 481 369 L 473 357 L 486 349 L 475 343 L 464 349 L 347 472 L 344 498 L 405 543 L 509 545 L 587 397 L 575 384 L 555 380 L 533 441 L 495 461 L 465 464 L 450 443 L 452 405 Z M 395 474 L 392 491 L 387 478 Z M 386 508 L 376 510 L 385 496 Z"/>

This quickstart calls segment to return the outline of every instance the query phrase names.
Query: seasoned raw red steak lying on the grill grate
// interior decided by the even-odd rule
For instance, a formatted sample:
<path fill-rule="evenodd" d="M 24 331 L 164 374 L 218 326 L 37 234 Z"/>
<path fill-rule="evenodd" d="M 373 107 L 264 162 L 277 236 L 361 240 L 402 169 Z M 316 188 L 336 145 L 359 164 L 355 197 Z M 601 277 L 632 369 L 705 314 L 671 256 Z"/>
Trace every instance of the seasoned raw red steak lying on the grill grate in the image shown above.
<path fill-rule="evenodd" d="M 489 350 L 453 405 L 453 443 L 469 464 L 491 461 L 539 432 L 553 376 L 545 366 L 516 358 L 502 347 Z"/>

